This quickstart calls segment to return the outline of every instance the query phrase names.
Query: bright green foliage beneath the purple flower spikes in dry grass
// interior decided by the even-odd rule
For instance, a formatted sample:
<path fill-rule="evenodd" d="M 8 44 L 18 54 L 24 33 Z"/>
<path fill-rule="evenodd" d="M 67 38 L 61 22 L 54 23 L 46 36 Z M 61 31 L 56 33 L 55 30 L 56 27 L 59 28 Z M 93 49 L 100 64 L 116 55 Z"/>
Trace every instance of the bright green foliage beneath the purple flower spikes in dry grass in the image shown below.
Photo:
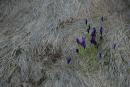
<path fill-rule="evenodd" d="M 84 49 L 81 45 L 78 45 L 77 48 L 79 49 L 79 57 L 84 60 L 86 68 L 91 70 L 92 68 L 95 68 L 98 65 L 97 62 L 98 49 L 96 48 L 95 45 L 93 44 L 90 45 L 91 35 L 86 33 L 85 36 L 87 47 Z"/>

